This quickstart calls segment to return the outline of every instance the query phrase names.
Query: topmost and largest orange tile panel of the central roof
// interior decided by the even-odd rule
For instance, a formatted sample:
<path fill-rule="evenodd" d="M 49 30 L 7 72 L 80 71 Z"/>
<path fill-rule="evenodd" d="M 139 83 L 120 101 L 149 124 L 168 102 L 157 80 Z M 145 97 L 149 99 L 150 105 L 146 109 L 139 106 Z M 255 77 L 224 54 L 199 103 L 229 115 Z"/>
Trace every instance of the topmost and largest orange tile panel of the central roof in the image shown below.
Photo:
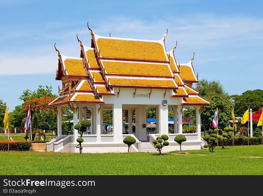
<path fill-rule="evenodd" d="M 158 42 L 98 38 L 97 46 L 102 57 L 167 61 Z"/>

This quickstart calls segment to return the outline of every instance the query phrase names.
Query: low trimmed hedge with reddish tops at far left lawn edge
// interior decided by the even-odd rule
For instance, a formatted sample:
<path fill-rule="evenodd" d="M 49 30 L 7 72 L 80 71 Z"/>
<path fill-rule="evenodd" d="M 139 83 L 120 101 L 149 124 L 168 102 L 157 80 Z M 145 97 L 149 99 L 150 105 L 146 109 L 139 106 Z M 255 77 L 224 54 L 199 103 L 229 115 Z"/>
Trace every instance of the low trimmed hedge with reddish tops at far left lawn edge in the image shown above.
<path fill-rule="evenodd" d="M 30 150 L 31 142 L 29 141 L 9 141 L 9 150 L 28 151 Z M 8 150 L 8 141 L 0 141 L 0 151 Z"/>

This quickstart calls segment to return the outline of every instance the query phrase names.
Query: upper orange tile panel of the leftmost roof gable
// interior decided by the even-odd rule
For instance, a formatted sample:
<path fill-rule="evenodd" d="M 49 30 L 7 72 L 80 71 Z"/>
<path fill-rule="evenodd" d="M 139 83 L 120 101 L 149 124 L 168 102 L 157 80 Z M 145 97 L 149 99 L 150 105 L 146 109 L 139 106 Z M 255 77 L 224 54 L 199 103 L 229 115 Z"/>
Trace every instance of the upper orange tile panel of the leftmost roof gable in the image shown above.
<path fill-rule="evenodd" d="M 64 61 L 68 75 L 87 75 L 82 59 L 67 58 Z"/>

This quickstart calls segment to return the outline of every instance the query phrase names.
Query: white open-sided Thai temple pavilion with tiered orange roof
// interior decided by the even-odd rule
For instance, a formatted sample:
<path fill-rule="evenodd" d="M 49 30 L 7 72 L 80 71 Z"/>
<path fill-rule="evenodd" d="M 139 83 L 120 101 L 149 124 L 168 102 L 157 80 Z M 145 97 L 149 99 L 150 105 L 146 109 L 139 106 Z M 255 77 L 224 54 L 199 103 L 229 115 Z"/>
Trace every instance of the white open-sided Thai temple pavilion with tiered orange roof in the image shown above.
<path fill-rule="evenodd" d="M 123 139 L 132 136 L 136 143 L 132 152 L 154 151 L 151 141 L 166 134 L 169 146 L 163 151 L 179 149 L 174 141 L 177 134 L 183 134 L 182 109 L 196 108 L 196 132 L 184 133 L 187 141 L 184 149 L 200 149 L 201 112 L 209 102 L 198 96 L 192 88 L 198 83 L 198 74 L 193 68 L 193 58 L 179 64 L 175 58 L 175 48 L 166 51 L 165 38 L 160 40 L 140 40 L 130 38 L 104 37 L 91 33 L 91 46 L 80 43 L 80 57 L 68 57 L 58 53 L 56 80 L 62 81 L 59 96 L 49 107 L 57 113 L 58 137 L 47 143 L 47 151 L 79 152 L 78 132 L 62 135 L 62 108 L 70 107 L 73 124 L 91 115 L 91 134 L 83 135 L 83 152 L 126 152 Z M 168 30 L 167 30 L 168 32 Z M 176 44 L 177 45 L 177 44 Z M 156 133 L 146 131 L 146 108 L 156 109 Z M 168 110 L 174 112 L 174 133 L 168 133 Z M 112 110 L 112 131 L 105 134 L 103 110 Z M 132 123 L 129 134 L 123 134 L 123 111 L 128 110 L 129 122 L 135 111 L 135 135 Z M 108 132 L 107 132 L 108 133 Z"/>

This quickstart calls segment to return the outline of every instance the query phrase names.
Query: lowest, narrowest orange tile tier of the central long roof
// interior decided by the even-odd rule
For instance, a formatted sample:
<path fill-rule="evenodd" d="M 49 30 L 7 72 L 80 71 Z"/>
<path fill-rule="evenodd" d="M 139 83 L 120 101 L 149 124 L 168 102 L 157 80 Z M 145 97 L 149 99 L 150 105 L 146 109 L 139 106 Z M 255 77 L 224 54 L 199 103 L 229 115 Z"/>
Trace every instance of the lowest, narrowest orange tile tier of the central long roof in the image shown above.
<path fill-rule="evenodd" d="M 111 85 L 126 86 L 153 86 L 153 87 L 176 87 L 172 80 L 147 80 L 128 78 L 109 78 Z"/>

